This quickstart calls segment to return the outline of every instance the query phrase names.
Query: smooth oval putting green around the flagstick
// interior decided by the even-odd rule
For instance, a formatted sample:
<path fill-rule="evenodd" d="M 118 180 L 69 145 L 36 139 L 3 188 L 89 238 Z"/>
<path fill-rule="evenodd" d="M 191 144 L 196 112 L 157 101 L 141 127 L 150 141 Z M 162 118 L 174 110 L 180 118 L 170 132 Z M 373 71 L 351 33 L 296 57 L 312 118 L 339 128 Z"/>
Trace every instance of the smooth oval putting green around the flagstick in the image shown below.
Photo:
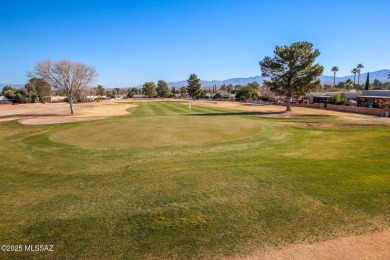
<path fill-rule="evenodd" d="M 83 148 L 152 147 L 231 140 L 260 130 L 259 122 L 229 116 L 156 116 L 87 124 L 51 139 Z"/>

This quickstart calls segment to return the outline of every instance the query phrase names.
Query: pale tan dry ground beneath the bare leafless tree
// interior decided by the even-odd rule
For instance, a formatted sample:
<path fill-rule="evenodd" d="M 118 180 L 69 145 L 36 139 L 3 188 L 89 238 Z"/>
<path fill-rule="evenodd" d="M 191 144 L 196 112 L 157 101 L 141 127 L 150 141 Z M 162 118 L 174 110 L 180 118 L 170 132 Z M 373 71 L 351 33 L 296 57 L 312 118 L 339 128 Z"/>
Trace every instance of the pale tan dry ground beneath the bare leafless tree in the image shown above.
<path fill-rule="evenodd" d="M 22 124 L 42 125 L 98 120 L 128 114 L 126 109 L 135 106 L 114 101 L 80 103 L 74 105 L 75 115 L 70 115 L 68 103 L 2 105 L 0 121 L 21 119 Z"/>

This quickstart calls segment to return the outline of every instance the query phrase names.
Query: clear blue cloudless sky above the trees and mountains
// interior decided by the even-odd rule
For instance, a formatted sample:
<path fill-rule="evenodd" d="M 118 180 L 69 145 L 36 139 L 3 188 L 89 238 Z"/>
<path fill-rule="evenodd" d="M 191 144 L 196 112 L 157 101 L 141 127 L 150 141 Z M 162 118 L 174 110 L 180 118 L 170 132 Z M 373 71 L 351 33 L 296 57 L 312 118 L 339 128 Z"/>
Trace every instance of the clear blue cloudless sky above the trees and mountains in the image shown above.
<path fill-rule="evenodd" d="M 324 75 L 390 68 L 389 0 L 0 0 L 0 83 L 42 59 L 96 68 L 97 84 L 260 75 L 275 45 L 310 41 Z"/>

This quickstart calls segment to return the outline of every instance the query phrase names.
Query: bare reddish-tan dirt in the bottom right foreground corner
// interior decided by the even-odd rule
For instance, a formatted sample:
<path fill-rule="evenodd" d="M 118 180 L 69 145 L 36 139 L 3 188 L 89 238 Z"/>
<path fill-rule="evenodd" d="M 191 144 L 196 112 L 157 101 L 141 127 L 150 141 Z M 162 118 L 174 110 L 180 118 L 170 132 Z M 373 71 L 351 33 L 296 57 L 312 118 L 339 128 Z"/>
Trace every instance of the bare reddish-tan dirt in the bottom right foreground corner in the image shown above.
<path fill-rule="evenodd" d="M 314 244 L 269 248 L 236 259 L 390 259 L 390 229 Z"/>

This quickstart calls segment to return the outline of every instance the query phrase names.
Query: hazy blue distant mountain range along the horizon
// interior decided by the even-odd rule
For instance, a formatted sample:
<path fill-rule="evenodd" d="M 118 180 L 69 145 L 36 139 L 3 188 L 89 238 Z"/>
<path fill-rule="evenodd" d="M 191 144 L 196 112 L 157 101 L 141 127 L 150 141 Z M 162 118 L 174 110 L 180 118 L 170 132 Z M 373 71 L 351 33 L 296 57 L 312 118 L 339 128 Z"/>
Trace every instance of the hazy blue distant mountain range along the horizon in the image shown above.
<path fill-rule="evenodd" d="M 375 79 L 380 80 L 381 82 L 390 82 L 389 79 L 389 73 L 390 70 L 383 69 L 378 70 L 374 72 L 370 72 L 370 82 L 372 83 Z M 360 84 L 364 84 L 366 82 L 367 72 L 360 74 Z M 339 82 L 345 82 L 347 79 L 353 80 L 353 75 L 345 76 L 345 77 L 336 77 L 336 84 Z M 333 76 L 320 76 L 321 84 L 325 85 L 332 85 L 333 84 Z M 256 76 L 256 77 L 249 77 L 249 78 L 232 78 L 232 79 L 225 79 L 225 80 L 201 80 L 200 83 L 202 84 L 202 87 L 212 87 L 216 85 L 217 87 L 220 87 L 223 84 L 229 85 L 246 85 L 248 83 L 251 83 L 253 81 L 258 82 L 259 84 L 262 84 L 264 81 L 264 77 Z M 358 82 L 358 75 L 356 75 L 356 83 Z M 24 84 L 0 84 L 0 89 L 2 89 L 4 86 L 10 85 L 15 88 L 22 88 L 24 87 Z M 168 82 L 169 87 L 182 87 L 187 86 L 187 80 L 181 80 L 176 82 Z M 137 87 L 142 87 L 137 86 Z"/>

